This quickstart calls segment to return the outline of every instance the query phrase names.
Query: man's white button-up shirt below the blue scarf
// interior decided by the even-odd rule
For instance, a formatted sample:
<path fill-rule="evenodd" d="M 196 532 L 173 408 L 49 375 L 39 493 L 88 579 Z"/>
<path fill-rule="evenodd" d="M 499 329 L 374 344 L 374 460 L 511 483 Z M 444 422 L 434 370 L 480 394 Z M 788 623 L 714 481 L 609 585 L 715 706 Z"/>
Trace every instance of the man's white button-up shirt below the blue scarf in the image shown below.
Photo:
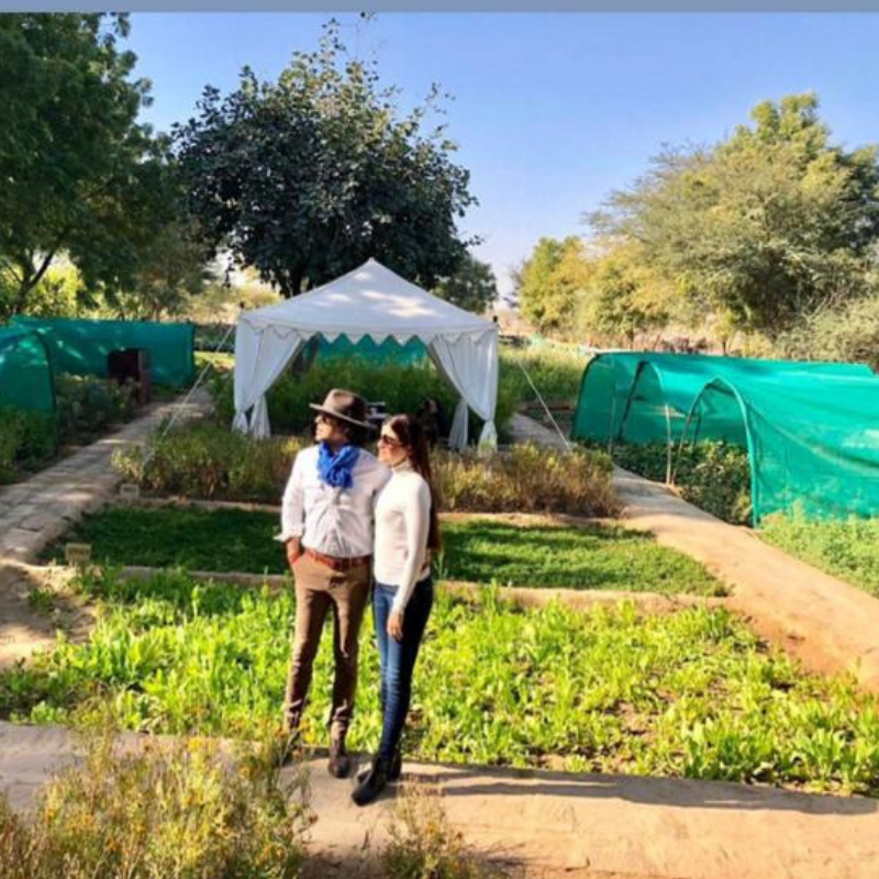
<path fill-rule="evenodd" d="M 353 486 L 333 488 L 318 476 L 319 452 L 310 446 L 296 456 L 283 490 L 279 539 L 301 537 L 304 547 L 335 558 L 372 555 L 375 501 L 390 468 L 361 448 Z"/>

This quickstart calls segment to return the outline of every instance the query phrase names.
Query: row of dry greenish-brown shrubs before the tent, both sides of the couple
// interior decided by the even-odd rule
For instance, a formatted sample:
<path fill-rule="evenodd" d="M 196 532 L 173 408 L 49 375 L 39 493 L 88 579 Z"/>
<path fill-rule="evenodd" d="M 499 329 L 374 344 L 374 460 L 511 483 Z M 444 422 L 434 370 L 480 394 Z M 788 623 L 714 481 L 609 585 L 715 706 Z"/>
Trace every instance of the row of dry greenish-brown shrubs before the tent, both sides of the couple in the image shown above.
<path fill-rule="evenodd" d="M 158 494 L 278 503 L 292 459 L 308 442 L 254 439 L 202 422 L 156 434 L 145 448 L 116 452 L 113 464 L 124 479 Z M 610 458 L 593 449 L 567 455 L 524 445 L 490 458 L 434 454 L 441 509 L 461 512 L 614 515 L 620 504 L 611 469 Z"/>

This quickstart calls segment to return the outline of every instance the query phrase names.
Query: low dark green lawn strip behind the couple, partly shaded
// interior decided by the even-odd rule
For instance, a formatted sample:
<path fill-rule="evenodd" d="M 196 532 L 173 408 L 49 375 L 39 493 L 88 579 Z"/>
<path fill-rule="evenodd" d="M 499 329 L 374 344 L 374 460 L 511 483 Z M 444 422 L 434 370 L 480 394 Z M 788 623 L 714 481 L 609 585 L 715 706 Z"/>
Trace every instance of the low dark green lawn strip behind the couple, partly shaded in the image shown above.
<path fill-rule="evenodd" d="M 274 513 L 197 507 L 119 507 L 90 516 L 65 538 L 90 543 L 96 560 L 190 570 L 285 574 Z M 501 586 L 721 594 L 692 559 L 644 534 L 602 525 L 520 527 L 497 520 L 443 523 L 439 577 Z M 49 549 L 60 559 L 63 545 Z"/>

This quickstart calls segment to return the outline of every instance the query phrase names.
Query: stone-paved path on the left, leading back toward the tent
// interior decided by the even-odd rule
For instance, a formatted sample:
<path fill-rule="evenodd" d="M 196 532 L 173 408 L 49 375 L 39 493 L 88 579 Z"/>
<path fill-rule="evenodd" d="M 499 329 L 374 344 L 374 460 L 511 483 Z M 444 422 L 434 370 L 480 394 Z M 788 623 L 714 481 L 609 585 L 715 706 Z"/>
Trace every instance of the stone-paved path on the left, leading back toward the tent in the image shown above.
<path fill-rule="evenodd" d="M 0 668 L 53 644 L 59 625 L 76 635 L 89 622 L 88 612 L 73 599 L 56 600 L 53 615 L 37 613 L 29 599 L 45 583 L 20 563 L 34 560 L 71 522 L 110 499 L 122 481 L 110 465 L 113 452 L 142 443 L 174 412 L 185 421 L 210 405 L 204 391 L 196 391 L 182 409 L 177 401 L 155 403 L 115 433 L 25 482 L 0 489 Z"/>

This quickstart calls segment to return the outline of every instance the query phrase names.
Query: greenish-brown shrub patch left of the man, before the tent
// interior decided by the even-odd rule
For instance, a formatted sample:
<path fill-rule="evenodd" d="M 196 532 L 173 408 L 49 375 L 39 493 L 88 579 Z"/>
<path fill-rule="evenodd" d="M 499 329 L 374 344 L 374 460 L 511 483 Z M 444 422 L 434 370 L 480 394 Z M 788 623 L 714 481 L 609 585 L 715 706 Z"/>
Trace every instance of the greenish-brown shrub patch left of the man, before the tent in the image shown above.
<path fill-rule="evenodd" d="M 207 500 L 277 503 L 301 442 L 253 439 L 210 422 L 159 427 L 145 448 L 119 450 L 113 466 L 147 491 Z"/>

